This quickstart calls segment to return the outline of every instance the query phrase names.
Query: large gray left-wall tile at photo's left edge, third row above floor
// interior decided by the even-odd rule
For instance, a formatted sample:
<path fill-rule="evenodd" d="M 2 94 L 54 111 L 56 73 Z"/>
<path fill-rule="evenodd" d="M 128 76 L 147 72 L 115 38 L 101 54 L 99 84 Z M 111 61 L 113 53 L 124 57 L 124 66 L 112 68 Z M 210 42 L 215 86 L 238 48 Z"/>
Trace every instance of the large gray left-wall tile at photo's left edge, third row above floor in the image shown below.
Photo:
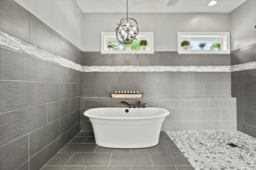
<path fill-rule="evenodd" d="M 46 104 L 0 114 L 0 146 L 46 125 L 46 120 Z"/>

